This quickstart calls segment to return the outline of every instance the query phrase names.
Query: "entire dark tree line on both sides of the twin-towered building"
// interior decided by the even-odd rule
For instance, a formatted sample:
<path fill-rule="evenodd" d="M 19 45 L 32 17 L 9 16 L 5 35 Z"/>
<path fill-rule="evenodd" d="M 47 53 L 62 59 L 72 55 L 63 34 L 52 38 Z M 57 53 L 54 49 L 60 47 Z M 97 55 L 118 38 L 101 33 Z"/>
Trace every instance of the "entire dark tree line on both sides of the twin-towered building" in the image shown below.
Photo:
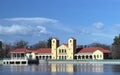
<path fill-rule="evenodd" d="M 16 48 L 27 48 L 29 50 L 36 50 L 39 48 L 51 48 L 51 40 L 52 37 L 47 40 L 41 40 L 37 43 L 29 46 L 27 41 L 20 40 L 14 43 L 4 43 L 0 41 L 0 58 L 10 57 L 9 52 Z M 113 39 L 112 46 L 101 44 L 101 43 L 91 43 L 89 45 L 78 45 L 78 49 L 86 48 L 86 47 L 101 47 L 107 50 L 111 50 L 111 56 L 113 59 L 120 59 L 120 35 L 115 36 Z"/>

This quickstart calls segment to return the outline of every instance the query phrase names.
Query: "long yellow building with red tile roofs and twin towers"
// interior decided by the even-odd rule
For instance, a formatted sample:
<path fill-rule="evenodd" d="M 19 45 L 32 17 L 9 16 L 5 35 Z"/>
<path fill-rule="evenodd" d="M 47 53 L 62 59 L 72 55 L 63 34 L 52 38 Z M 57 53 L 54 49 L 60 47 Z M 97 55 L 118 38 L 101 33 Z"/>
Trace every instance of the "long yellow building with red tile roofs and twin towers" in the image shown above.
<path fill-rule="evenodd" d="M 109 50 L 99 47 L 77 49 L 76 39 L 70 38 L 68 44 L 59 45 L 59 40 L 52 39 L 52 48 L 27 50 L 25 48 L 12 50 L 11 58 L 42 59 L 42 60 L 103 60 L 108 58 Z"/>

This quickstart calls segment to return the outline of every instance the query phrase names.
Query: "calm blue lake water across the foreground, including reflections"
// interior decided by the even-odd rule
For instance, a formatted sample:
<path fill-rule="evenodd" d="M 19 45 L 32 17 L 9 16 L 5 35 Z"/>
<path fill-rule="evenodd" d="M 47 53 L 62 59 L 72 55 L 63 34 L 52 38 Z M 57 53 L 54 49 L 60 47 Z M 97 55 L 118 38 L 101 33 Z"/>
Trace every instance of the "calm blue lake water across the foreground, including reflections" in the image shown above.
<path fill-rule="evenodd" d="M 0 66 L 0 75 L 120 75 L 120 65 L 40 64 Z"/>

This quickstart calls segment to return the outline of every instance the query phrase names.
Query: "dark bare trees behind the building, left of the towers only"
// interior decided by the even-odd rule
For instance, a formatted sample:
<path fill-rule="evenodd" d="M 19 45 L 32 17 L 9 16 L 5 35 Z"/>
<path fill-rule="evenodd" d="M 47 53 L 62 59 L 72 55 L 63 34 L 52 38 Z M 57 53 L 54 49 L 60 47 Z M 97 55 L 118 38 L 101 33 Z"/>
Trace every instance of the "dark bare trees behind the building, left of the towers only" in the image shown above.
<path fill-rule="evenodd" d="M 0 41 L 0 58 L 10 57 L 10 51 L 17 48 L 27 48 L 29 50 L 36 50 L 39 48 L 51 48 L 51 39 L 38 41 L 37 43 L 29 46 L 27 41 L 19 40 L 14 43 L 4 43 Z"/>

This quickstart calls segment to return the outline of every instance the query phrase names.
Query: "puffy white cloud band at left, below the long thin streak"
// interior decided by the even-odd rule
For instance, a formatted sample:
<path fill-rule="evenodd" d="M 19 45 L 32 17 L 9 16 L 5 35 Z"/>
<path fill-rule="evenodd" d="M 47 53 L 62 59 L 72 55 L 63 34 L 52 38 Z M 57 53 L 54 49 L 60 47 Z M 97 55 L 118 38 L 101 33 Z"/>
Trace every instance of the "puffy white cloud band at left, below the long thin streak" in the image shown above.
<path fill-rule="evenodd" d="M 49 34 L 45 27 L 42 26 L 25 26 L 25 25 L 0 25 L 0 35 L 34 35 Z"/>

